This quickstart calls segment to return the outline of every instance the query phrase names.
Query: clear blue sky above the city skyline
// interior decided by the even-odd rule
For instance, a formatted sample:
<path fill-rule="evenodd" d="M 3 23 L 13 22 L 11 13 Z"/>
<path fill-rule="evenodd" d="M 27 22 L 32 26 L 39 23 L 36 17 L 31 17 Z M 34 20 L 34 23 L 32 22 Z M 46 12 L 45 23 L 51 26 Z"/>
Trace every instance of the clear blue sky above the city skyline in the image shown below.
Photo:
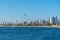
<path fill-rule="evenodd" d="M 50 16 L 60 16 L 60 0 L 0 0 L 0 21 L 30 21 Z"/>

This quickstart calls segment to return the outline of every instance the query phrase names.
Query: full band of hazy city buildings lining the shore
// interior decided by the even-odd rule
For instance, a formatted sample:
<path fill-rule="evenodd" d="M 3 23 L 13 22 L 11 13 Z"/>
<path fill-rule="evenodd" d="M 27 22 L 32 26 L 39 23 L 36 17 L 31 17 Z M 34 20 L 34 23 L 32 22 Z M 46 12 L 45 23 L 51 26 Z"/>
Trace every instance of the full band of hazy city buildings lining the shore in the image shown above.
<path fill-rule="evenodd" d="M 60 26 L 60 16 L 56 16 L 56 17 L 50 17 L 47 20 L 42 19 L 42 20 L 34 20 L 34 21 L 30 21 L 30 22 L 26 22 L 23 21 L 22 23 L 20 23 L 18 20 L 16 20 L 16 23 L 13 22 L 3 22 L 0 25 L 8 25 L 8 26 L 52 26 L 52 25 L 57 25 Z"/>

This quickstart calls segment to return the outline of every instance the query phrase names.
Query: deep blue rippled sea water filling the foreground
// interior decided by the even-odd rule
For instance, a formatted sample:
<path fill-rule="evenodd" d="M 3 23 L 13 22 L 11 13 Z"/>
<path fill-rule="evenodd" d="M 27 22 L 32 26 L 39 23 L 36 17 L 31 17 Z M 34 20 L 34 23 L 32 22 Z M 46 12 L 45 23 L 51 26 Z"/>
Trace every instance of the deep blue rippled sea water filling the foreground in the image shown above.
<path fill-rule="evenodd" d="M 60 40 L 60 28 L 1 27 L 0 40 Z"/>

